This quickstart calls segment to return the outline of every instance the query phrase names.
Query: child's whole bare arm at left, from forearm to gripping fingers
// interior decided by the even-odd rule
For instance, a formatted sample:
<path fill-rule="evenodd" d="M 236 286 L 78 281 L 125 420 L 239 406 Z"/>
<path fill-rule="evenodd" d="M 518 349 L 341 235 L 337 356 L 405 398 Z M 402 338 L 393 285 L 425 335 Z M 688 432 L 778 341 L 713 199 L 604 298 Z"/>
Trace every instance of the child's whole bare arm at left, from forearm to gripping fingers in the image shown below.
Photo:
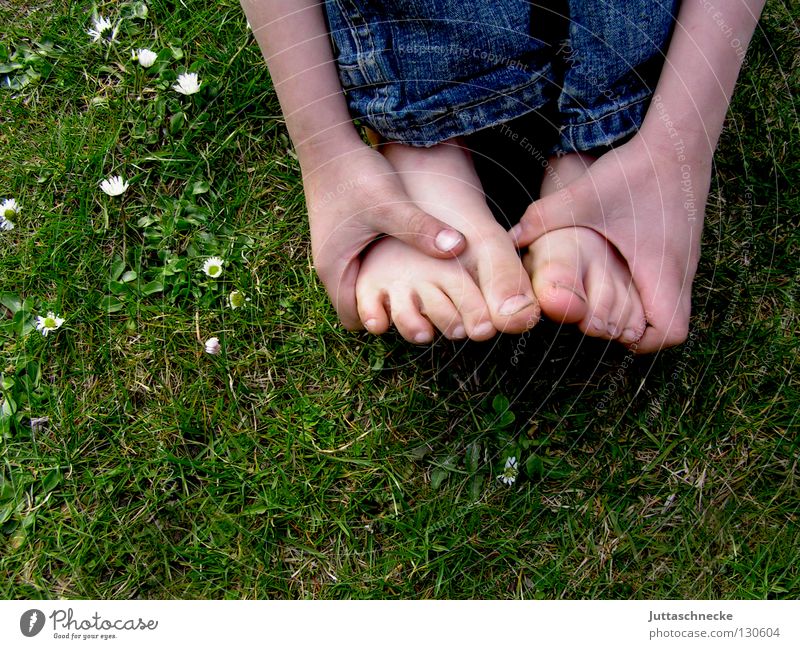
<path fill-rule="evenodd" d="M 382 234 L 434 257 L 465 241 L 416 207 L 394 170 L 364 144 L 347 110 L 319 0 L 242 0 L 295 144 L 314 263 L 343 324 L 358 328 L 359 255 Z"/>

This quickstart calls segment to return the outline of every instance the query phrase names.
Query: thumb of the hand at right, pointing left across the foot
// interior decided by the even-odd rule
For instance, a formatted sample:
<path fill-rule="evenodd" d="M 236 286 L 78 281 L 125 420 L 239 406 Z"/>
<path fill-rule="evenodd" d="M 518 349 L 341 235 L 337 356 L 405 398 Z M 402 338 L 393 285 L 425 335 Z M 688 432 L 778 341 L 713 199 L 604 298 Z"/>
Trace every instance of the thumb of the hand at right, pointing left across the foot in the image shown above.
<path fill-rule="evenodd" d="M 531 203 L 509 234 L 520 248 L 530 245 L 545 232 L 579 225 L 594 227 L 600 213 L 597 192 L 591 183 L 577 180 L 555 194 Z"/>

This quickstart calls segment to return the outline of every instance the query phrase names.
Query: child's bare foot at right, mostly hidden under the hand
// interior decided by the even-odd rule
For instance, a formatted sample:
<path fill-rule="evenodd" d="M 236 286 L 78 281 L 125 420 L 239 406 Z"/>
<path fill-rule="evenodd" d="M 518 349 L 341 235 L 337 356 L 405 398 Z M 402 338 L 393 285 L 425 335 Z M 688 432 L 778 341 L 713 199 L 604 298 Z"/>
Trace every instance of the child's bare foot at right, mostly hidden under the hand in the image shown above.
<path fill-rule="evenodd" d="M 581 176 L 594 158 L 568 154 L 550 161 L 542 196 Z M 625 262 L 589 228 L 549 232 L 523 257 L 542 313 L 555 322 L 578 323 L 588 336 L 631 344 L 645 330 L 639 294 Z"/>

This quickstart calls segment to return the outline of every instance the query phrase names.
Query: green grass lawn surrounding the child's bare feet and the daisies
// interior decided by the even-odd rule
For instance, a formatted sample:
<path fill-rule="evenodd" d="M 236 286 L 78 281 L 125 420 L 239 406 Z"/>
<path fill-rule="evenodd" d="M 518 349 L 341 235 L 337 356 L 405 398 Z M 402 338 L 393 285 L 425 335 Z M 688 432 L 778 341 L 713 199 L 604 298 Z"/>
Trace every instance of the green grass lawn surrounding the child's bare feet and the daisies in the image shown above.
<path fill-rule="evenodd" d="M 0 91 L 0 199 L 22 205 L 0 234 L 0 595 L 797 597 L 788 7 L 716 158 L 690 338 L 634 359 L 547 324 L 431 349 L 344 332 L 238 3 L 153 0 L 110 48 L 88 3 L 3 4 L 0 63 L 30 83 Z M 181 98 L 186 69 L 205 87 Z M 61 329 L 25 331 L 50 309 Z"/>

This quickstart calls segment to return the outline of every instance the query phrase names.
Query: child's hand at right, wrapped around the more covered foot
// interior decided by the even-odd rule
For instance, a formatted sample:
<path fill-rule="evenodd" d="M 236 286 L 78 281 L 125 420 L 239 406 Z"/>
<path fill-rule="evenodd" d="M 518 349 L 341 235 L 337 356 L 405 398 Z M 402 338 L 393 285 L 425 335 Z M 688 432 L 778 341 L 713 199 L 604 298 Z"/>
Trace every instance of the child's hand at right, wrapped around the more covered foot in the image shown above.
<path fill-rule="evenodd" d="M 710 159 L 679 156 L 669 142 L 648 146 L 637 135 L 533 203 L 511 235 L 519 246 L 573 226 L 606 237 L 627 262 L 644 306 L 648 327 L 632 348 L 658 351 L 688 334 L 710 178 Z"/>

